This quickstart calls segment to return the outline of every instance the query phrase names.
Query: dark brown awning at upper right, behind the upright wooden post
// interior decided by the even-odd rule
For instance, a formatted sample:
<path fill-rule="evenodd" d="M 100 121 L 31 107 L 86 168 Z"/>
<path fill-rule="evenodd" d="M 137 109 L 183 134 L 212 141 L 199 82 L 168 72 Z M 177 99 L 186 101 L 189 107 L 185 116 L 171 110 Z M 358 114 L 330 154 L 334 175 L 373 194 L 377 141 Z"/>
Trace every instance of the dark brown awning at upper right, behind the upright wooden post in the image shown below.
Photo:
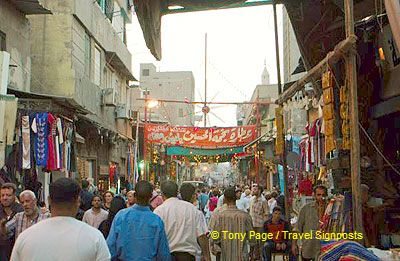
<path fill-rule="evenodd" d="M 375 0 L 353 0 L 354 19 L 375 15 Z M 343 0 L 282 0 L 309 71 L 345 37 Z"/>

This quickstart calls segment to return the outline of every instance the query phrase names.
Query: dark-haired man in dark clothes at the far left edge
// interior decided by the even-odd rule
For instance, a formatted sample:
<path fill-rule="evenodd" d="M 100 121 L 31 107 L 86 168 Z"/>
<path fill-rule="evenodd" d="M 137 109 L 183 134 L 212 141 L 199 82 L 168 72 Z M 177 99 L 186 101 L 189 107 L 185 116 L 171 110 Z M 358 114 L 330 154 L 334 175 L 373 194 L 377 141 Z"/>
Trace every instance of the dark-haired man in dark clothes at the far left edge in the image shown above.
<path fill-rule="evenodd" d="M 15 201 L 17 187 L 13 183 L 4 183 L 0 189 L 0 220 L 10 221 L 15 214 L 24 211 L 21 204 Z M 14 245 L 13 238 L 0 233 L 0 260 L 9 260 Z"/>

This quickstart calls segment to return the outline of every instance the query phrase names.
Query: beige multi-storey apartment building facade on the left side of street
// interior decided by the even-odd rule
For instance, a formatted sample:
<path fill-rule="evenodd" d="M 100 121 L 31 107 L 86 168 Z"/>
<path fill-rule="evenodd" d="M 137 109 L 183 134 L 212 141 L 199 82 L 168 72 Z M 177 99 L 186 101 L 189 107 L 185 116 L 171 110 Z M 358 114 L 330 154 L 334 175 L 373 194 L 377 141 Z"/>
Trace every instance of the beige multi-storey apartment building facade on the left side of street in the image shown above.
<path fill-rule="evenodd" d="M 32 17 L 33 92 L 62 98 L 74 112 L 76 172 L 101 189 L 132 172 L 131 1 L 47 1 Z"/>

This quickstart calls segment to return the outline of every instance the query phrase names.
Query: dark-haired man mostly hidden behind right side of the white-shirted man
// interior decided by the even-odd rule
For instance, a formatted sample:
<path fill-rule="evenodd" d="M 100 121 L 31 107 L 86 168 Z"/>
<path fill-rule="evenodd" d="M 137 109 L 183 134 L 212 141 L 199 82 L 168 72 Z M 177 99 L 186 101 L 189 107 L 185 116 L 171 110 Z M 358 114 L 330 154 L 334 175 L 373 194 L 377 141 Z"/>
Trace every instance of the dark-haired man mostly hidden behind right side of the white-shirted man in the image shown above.
<path fill-rule="evenodd" d="M 196 189 L 190 183 L 182 184 L 179 192 L 181 193 L 182 200 L 185 200 L 189 203 L 193 203 L 196 200 L 196 193 L 195 193 Z M 200 260 L 202 256 L 204 257 L 204 259 L 210 259 L 211 255 L 207 238 L 208 228 L 206 219 L 203 215 L 203 212 L 201 212 L 200 210 L 197 210 L 197 215 L 198 215 L 198 220 L 200 222 L 199 225 L 202 227 L 202 230 L 206 232 L 200 236 L 200 239 L 197 240 L 199 244 L 202 244 L 202 246 L 200 247 L 199 244 L 197 245 L 196 259 Z M 202 253 L 201 249 L 206 249 L 206 252 Z"/>

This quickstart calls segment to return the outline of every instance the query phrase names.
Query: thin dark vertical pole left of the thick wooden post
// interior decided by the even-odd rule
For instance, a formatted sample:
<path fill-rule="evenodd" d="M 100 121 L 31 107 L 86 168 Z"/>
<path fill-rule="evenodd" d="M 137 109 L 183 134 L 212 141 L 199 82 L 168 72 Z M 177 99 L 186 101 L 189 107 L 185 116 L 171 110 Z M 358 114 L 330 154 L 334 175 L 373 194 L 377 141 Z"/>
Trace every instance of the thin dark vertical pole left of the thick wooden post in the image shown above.
<path fill-rule="evenodd" d="M 276 70 L 278 76 L 278 93 L 279 95 L 282 94 L 282 83 L 281 83 L 281 64 L 279 58 L 279 38 L 278 38 L 278 21 L 276 15 L 276 1 L 272 2 L 272 7 L 274 9 L 274 31 L 275 31 L 275 55 L 276 55 Z M 282 105 L 279 105 L 282 107 Z M 284 179 L 284 195 L 285 195 L 285 216 L 286 220 L 290 220 L 290 210 L 289 210 L 289 188 L 288 188 L 288 169 L 286 163 L 286 137 L 285 133 L 283 132 L 283 153 L 282 153 L 282 164 L 283 164 L 283 179 Z"/>

